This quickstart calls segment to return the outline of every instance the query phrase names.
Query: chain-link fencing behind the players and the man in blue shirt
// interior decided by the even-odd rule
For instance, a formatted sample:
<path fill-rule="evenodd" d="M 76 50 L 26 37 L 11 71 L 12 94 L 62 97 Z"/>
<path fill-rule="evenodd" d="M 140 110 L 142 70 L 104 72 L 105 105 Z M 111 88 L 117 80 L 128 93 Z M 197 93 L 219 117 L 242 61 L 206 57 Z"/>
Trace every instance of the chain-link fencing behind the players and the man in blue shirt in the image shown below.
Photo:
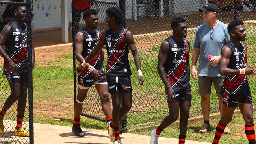
<path fill-rule="evenodd" d="M 95 4 L 99 1 L 91 2 L 91 8 L 99 12 L 98 29 L 106 29 L 104 24 L 104 12 L 108 7 L 113 6 L 111 2 Z M 132 109 L 128 114 L 128 127 L 141 127 L 159 124 L 168 111 L 168 105 L 165 100 L 165 90 L 163 82 L 158 76 L 157 59 L 161 42 L 172 35 L 171 20 L 176 16 L 186 19 L 188 26 L 187 40 L 191 43 L 190 64 L 192 57 L 192 43 L 195 38 L 195 30 L 204 23 L 202 13 L 198 9 L 204 4 L 211 2 L 219 8 L 217 18 L 228 24 L 234 19 L 240 19 L 245 22 L 247 28 L 247 39 L 244 43 L 248 47 L 248 63 L 256 62 L 254 50 L 256 42 L 256 11 L 255 0 L 126 0 L 120 7 L 126 13 L 126 28 L 134 34 L 134 40 L 141 59 L 144 85 L 137 85 L 137 69 L 132 57 L 129 54 L 130 66 L 132 70 L 132 88 L 133 99 Z M 124 9 L 125 7 L 125 9 Z M 80 26 L 84 26 L 84 21 L 80 20 Z M 105 57 L 106 58 L 106 57 Z M 106 61 L 105 61 L 106 62 Z M 77 65 L 78 63 L 76 63 Z M 74 65 L 75 66 L 75 65 Z M 198 62 L 197 62 L 198 66 Z M 255 66 L 254 66 L 255 67 Z M 75 78 L 75 77 L 74 77 Z M 255 95 L 254 77 L 249 76 L 249 85 L 252 96 Z M 201 96 L 198 94 L 198 81 L 191 78 L 192 86 L 192 104 L 190 116 L 201 116 Z M 76 95 L 76 90 L 75 90 Z M 218 98 L 214 86 L 211 90 L 210 113 L 219 112 Z M 100 107 L 100 99 L 96 90 L 91 89 L 84 102 L 82 115 L 104 120 L 104 114 Z"/>

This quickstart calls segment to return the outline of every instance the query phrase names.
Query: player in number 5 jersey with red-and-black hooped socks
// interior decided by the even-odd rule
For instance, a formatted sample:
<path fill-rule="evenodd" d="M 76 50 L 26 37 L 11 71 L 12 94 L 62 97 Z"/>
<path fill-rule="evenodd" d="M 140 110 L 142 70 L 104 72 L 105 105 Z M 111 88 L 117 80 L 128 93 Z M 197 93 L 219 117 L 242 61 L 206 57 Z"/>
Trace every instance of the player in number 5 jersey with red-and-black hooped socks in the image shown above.
<path fill-rule="evenodd" d="M 223 116 L 216 127 L 213 144 L 218 144 L 226 125 L 231 122 L 238 105 L 245 120 L 245 134 L 249 144 L 255 144 L 255 130 L 252 115 L 252 96 L 247 75 L 256 74 L 256 70 L 247 65 L 246 28 L 243 21 L 233 20 L 228 24 L 228 41 L 221 49 L 220 74 L 225 76 L 221 95 L 223 99 Z"/>

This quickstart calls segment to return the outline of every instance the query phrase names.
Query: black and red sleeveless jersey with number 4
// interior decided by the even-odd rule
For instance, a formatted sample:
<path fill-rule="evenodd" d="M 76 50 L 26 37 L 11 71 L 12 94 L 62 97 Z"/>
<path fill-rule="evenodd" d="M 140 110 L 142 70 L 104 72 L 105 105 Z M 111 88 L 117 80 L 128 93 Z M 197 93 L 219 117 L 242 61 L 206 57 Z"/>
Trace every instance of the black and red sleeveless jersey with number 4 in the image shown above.
<path fill-rule="evenodd" d="M 83 52 L 82 56 L 86 59 L 90 52 L 95 48 L 96 44 L 100 39 L 101 32 L 100 30 L 95 29 L 94 33 L 87 31 L 85 28 L 80 30 L 79 32 L 83 33 Z M 99 70 L 102 74 L 104 74 L 103 70 L 103 59 L 100 55 L 100 52 L 93 58 L 93 60 L 89 63 L 91 66 Z M 82 72 L 78 73 L 82 78 L 92 78 L 91 72 L 88 68 L 85 68 Z"/>

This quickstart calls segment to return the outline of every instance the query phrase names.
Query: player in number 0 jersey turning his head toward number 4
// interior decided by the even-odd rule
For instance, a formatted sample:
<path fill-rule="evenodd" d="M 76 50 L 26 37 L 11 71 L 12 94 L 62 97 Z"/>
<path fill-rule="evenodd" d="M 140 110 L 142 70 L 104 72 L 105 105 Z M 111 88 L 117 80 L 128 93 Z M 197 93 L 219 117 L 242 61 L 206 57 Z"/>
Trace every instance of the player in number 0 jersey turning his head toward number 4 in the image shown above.
<path fill-rule="evenodd" d="M 130 80 L 130 66 L 128 60 L 129 48 L 134 57 L 135 65 L 138 70 L 139 85 L 143 85 L 143 77 L 141 72 L 141 63 L 138 52 L 134 43 L 133 35 L 126 28 L 121 26 L 122 14 L 117 8 L 111 7 L 106 10 L 106 24 L 110 28 L 102 32 L 100 41 L 91 51 L 82 65 L 76 70 L 80 72 L 85 66 L 97 73 L 95 79 L 102 79 L 102 73 L 89 64 L 93 57 L 106 45 L 108 52 L 106 76 L 108 81 L 109 92 L 113 102 L 113 122 L 110 122 L 114 129 L 115 138 L 111 140 L 114 144 L 122 144 L 119 136 L 119 120 L 122 119 L 131 109 L 132 105 L 132 85 Z M 86 69 L 87 69 L 86 68 Z M 120 96 L 122 96 L 122 107 L 120 109 Z"/>

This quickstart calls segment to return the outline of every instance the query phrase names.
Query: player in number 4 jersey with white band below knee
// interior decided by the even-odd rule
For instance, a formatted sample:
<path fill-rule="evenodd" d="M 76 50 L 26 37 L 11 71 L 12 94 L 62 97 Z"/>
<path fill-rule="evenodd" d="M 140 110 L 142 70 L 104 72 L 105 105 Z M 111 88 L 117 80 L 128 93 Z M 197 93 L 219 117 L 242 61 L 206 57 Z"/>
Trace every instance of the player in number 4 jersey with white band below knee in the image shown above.
<path fill-rule="evenodd" d="M 90 52 L 95 48 L 101 36 L 101 32 L 96 29 L 98 24 L 98 12 L 95 9 L 86 10 L 83 13 L 83 19 L 86 23 L 85 28 L 82 28 L 82 30 L 76 34 L 75 38 L 76 59 L 80 63 L 83 63 L 85 58 L 88 57 Z M 106 116 L 107 122 L 112 121 L 111 106 L 109 103 L 108 95 L 108 84 L 105 72 L 103 70 L 103 59 L 104 53 L 102 50 L 100 50 L 90 62 L 91 66 L 94 66 L 102 73 L 101 80 L 96 80 L 93 78 L 95 72 L 91 72 L 87 68 L 78 73 L 78 94 L 76 101 L 74 102 L 75 114 L 74 125 L 72 127 L 73 133 L 77 136 L 84 136 L 84 133 L 80 127 L 80 114 L 82 112 L 82 104 L 86 98 L 89 87 L 91 87 L 93 84 L 95 85 L 96 90 L 100 95 L 102 110 Z M 109 128 L 109 130 L 110 137 L 113 139 L 113 130 L 111 128 Z"/>

